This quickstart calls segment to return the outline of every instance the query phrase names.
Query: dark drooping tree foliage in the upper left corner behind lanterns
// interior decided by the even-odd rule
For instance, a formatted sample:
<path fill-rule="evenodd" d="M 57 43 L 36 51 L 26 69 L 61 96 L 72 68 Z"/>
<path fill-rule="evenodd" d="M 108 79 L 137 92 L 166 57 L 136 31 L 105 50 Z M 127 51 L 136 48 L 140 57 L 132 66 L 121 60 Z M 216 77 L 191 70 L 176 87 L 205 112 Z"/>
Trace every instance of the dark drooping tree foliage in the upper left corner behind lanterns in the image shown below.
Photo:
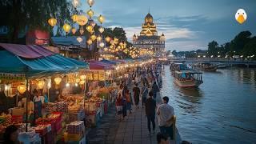
<path fill-rule="evenodd" d="M 2 0 L 0 26 L 8 26 L 8 41 L 18 42 L 18 34 L 27 30 L 52 30 L 48 19 L 57 19 L 58 33 L 64 22 L 70 22 L 74 8 L 67 0 Z"/>

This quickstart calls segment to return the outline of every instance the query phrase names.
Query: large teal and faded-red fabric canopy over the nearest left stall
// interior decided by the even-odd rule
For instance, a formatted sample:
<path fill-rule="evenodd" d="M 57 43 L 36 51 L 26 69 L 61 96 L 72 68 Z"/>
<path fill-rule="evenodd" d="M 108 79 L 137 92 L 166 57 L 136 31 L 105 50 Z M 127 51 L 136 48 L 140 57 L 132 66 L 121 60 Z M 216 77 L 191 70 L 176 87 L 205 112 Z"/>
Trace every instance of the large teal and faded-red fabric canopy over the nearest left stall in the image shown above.
<path fill-rule="evenodd" d="M 86 62 L 62 57 L 42 46 L 0 43 L 0 59 L 0 73 L 27 74 L 28 77 L 69 73 L 89 67 Z"/>

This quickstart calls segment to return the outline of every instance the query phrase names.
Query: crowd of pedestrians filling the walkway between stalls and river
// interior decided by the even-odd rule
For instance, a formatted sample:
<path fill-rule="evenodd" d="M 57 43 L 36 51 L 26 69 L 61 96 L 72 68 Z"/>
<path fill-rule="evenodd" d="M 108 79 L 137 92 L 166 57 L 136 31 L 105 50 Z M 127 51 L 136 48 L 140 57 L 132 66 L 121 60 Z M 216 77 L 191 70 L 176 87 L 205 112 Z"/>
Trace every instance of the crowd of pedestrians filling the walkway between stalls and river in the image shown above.
<path fill-rule="evenodd" d="M 134 110 L 139 109 L 139 103 L 142 102 L 142 108 L 145 108 L 149 135 L 152 132 L 155 133 L 155 118 L 158 118 L 160 129 L 158 137 L 163 142 L 166 138 L 174 139 L 174 108 L 168 104 L 168 97 L 163 97 L 162 104 L 157 106 L 156 98 L 160 97 L 160 89 L 162 88 L 161 73 L 162 65 L 158 62 L 131 71 L 119 86 L 116 110 L 119 120 L 126 121 L 126 111 L 128 110 L 132 114 L 133 108 Z"/>

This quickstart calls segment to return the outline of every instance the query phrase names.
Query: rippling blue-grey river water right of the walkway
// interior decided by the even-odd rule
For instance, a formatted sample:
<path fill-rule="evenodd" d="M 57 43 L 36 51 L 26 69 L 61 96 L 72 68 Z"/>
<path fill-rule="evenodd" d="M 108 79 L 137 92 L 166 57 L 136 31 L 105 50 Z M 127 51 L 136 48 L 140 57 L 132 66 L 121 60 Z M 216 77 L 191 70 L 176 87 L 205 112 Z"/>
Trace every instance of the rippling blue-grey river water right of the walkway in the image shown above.
<path fill-rule="evenodd" d="M 170 98 L 183 140 L 256 143 L 256 69 L 205 72 L 196 90 L 176 86 L 169 66 L 162 79 L 162 96 Z"/>

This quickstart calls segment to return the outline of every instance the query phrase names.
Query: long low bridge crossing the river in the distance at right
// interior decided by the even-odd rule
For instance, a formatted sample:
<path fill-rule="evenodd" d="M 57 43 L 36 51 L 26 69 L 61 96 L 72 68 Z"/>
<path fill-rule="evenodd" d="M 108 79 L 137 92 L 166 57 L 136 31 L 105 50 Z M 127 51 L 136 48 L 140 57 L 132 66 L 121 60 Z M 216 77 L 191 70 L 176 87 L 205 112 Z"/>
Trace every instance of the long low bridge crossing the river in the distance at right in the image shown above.
<path fill-rule="evenodd" d="M 229 66 L 245 65 L 247 67 L 256 66 L 256 61 L 230 60 L 230 59 L 216 59 L 216 58 L 171 58 L 169 62 L 209 62 L 212 64 L 226 64 Z"/>

